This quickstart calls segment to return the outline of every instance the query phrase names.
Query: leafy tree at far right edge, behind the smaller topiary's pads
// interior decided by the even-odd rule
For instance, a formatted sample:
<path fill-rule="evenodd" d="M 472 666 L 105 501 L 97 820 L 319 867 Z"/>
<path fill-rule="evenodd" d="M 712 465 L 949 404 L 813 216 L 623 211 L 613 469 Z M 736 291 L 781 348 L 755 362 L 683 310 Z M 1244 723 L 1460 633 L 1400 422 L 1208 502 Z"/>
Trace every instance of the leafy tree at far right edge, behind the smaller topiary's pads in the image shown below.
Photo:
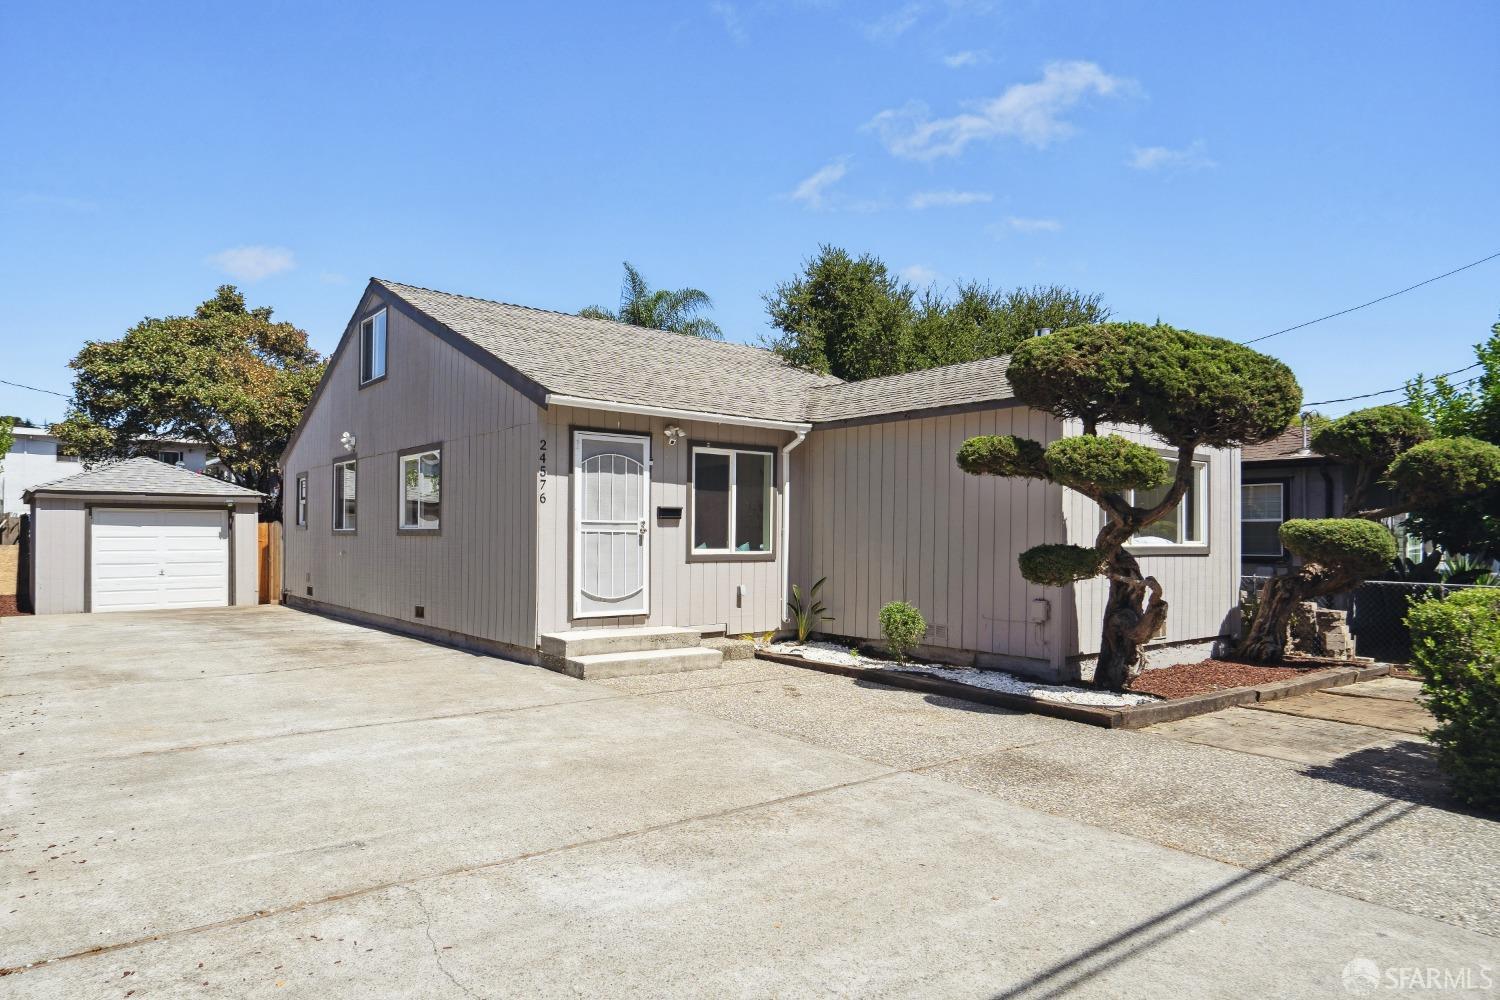
<path fill-rule="evenodd" d="M 1479 373 L 1407 384 L 1407 406 L 1428 420 L 1440 436 L 1472 436 L 1500 444 L 1500 322 L 1490 339 L 1474 345 Z M 1500 559 L 1500 487 L 1412 514 L 1408 526 L 1444 552 Z"/>

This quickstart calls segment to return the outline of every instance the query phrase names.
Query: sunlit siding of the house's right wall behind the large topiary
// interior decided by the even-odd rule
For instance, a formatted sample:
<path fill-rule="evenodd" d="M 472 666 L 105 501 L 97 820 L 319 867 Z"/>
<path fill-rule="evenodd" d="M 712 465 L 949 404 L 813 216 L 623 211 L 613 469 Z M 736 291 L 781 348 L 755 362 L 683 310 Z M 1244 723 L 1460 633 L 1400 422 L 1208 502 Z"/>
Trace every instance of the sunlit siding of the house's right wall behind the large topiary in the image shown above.
<path fill-rule="evenodd" d="M 1070 433 L 1078 433 L 1076 421 Z M 1150 435 L 1126 427 L 1101 429 L 1152 447 L 1162 447 Z M 1239 450 L 1200 448 L 1208 460 L 1208 553 L 1143 555 L 1140 568 L 1161 582 L 1168 604 L 1166 642 L 1212 639 L 1232 624 L 1239 606 Z M 1089 498 L 1065 490 L 1064 510 L 1068 541 L 1092 544 L 1102 514 Z M 1100 651 L 1100 628 L 1108 586 L 1102 579 L 1072 586 L 1068 655 L 1094 655 Z"/>

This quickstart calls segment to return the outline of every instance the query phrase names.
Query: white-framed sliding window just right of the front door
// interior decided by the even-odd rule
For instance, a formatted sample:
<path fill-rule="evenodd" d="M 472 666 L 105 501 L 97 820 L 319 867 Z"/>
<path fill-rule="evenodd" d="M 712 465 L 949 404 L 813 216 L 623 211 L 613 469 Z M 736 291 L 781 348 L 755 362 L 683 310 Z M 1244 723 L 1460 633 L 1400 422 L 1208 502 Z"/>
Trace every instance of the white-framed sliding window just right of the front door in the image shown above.
<path fill-rule="evenodd" d="M 770 555 L 776 522 L 776 456 L 693 448 L 693 555 Z"/>

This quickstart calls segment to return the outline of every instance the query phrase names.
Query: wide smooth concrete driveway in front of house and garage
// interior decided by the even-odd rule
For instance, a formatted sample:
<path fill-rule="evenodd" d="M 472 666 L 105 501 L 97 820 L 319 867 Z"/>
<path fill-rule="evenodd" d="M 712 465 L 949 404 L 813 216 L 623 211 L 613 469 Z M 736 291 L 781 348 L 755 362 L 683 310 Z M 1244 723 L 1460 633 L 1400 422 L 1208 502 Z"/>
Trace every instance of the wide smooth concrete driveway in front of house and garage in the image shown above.
<path fill-rule="evenodd" d="M 736 669 L 764 682 L 704 685 Z M 4 619 L 0 720 L 0 996 L 1328 997 L 1497 964 L 951 759 L 279 607 Z"/>

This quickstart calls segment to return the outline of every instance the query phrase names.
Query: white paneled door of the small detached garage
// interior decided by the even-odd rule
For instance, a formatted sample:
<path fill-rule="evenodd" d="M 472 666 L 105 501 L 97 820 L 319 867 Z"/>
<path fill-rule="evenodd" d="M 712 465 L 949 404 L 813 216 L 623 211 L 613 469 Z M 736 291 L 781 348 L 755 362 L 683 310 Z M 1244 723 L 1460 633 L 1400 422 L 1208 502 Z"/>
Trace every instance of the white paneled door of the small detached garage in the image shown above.
<path fill-rule="evenodd" d="M 230 522 L 222 510 L 94 508 L 90 609 L 224 607 Z"/>

